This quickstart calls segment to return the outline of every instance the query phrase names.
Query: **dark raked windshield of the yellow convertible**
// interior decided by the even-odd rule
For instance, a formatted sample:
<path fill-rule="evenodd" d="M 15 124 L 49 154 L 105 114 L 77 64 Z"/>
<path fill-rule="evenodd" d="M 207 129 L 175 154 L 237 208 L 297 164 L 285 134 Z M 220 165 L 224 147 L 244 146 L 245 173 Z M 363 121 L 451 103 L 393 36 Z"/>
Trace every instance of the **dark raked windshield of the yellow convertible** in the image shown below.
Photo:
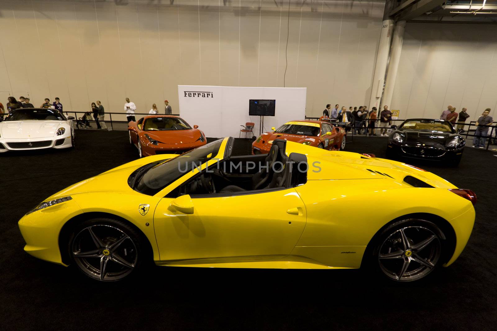
<path fill-rule="evenodd" d="M 133 189 L 149 196 L 157 194 L 179 177 L 216 157 L 222 142 L 223 139 L 210 142 L 150 168 L 141 178 L 137 178 Z M 138 168 L 131 176 L 140 176 L 143 167 Z"/>

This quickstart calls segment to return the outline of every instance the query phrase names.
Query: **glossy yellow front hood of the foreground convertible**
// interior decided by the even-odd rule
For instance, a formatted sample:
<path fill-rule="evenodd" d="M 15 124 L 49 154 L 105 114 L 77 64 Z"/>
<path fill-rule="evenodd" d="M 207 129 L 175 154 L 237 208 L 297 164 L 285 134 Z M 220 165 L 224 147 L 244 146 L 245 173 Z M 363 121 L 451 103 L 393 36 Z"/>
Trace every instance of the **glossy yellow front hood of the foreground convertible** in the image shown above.
<path fill-rule="evenodd" d="M 151 162 L 167 160 L 176 156 L 176 154 L 153 155 L 128 162 L 117 168 L 108 170 L 100 175 L 85 179 L 79 183 L 71 185 L 70 187 L 57 192 L 46 200 L 95 192 L 141 194 L 131 189 L 131 187 L 128 185 L 128 177 L 131 175 L 131 173 L 141 166 L 144 166 Z"/>

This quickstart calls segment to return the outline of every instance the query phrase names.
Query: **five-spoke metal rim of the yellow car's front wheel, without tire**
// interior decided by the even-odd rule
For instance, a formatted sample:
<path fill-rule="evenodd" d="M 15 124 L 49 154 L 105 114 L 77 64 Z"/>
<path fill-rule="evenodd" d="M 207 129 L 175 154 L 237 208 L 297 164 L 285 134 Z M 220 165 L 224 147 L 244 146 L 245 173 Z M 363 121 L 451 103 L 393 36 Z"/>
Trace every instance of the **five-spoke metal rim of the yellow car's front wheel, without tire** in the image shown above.
<path fill-rule="evenodd" d="M 83 273 L 104 281 L 126 277 L 138 262 L 134 239 L 121 229 L 107 224 L 81 229 L 74 237 L 71 254 Z"/>

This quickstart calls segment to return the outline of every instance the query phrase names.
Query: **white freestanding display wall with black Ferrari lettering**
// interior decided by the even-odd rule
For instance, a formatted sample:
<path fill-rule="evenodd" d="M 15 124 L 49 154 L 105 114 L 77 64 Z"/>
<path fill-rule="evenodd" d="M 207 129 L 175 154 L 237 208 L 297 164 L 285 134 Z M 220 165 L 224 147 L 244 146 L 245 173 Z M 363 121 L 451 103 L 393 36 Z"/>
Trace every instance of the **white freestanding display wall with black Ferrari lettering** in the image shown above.
<path fill-rule="evenodd" d="M 208 137 L 238 137 L 241 125 L 255 123 L 259 116 L 248 115 L 248 100 L 276 100 L 275 116 L 264 117 L 263 132 L 285 122 L 303 120 L 306 113 L 305 87 L 235 87 L 178 85 L 179 114 L 191 126 L 198 125 Z M 242 134 L 244 137 L 245 134 Z"/>

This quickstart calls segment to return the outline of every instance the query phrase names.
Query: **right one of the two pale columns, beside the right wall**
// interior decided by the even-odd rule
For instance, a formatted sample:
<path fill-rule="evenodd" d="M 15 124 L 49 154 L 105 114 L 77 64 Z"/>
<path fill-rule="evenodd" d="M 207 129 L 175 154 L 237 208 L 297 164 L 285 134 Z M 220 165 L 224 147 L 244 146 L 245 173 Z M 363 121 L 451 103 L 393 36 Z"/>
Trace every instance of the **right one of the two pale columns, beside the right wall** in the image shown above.
<path fill-rule="evenodd" d="M 399 21 L 395 25 L 394 37 L 392 40 L 392 51 L 390 53 L 390 63 L 388 65 L 387 78 L 385 80 L 385 91 L 381 100 L 381 106 L 388 105 L 391 109 L 392 96 L 394 94 L 395 79 L 399 69 L 401 59 L 402 43 L 404 42 L 404 30 L 406 21 Z"/>

